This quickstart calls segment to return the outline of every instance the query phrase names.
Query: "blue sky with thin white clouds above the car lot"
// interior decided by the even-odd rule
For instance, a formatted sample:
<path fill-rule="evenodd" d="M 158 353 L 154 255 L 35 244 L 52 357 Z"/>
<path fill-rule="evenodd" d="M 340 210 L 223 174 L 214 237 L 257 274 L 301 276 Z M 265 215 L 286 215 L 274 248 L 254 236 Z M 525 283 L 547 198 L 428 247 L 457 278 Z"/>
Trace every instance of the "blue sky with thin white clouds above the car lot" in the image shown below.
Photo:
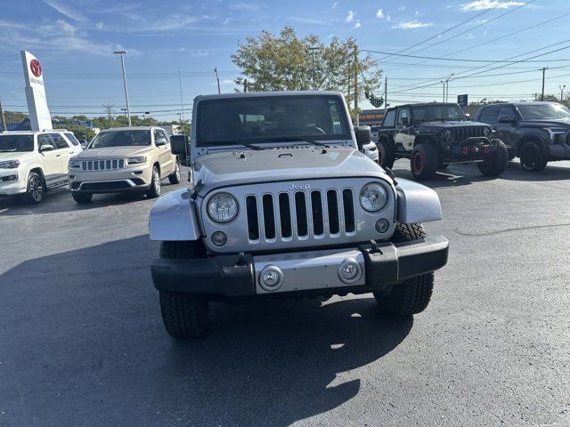
<path fill-rule="evenodd" d="M 222 91 L 232 91 L 238 70 L 230 55 L 240 41 L 262 29 L 278 32 L 285 25 L 300 36 L 316 34 L 323 40 L 354 36 L 366 50 L 444 58 L 375 53 L 388 78 L 391 105 L 440 101 L 439 80 L 451 73 L 450 101 L 459 93 L 468 93 L 470 100 L 531 99 L 541 91 L 542 73 L 537 69 L 542 67 L 550 68 L 546 93 L 560 93 L 558 86 L 566 84 L 570 90 L 570 49 L 564 49 L 570 46 L 568 22 L 567 0 L 5 2 L 0 16 L 0 99 L 5 109 L 26 110 L 20 64 L 20 50 L 26 49 L 42 63 L 53 115 L 99 116 L 102 104 L 114 104 L 119 111 L 124 107 L 120 63 L 111 51 L 123 48 L 128 51 L 132 111 L 151 111 L 160 119 L 177 117 L 180 71 L 188 116 L 194 96 L 216 92 L 215 67 Z M 526 61 L 532 56 L 537 57 Z M 493 62 L 511 59 L 523 61 Z"/>

